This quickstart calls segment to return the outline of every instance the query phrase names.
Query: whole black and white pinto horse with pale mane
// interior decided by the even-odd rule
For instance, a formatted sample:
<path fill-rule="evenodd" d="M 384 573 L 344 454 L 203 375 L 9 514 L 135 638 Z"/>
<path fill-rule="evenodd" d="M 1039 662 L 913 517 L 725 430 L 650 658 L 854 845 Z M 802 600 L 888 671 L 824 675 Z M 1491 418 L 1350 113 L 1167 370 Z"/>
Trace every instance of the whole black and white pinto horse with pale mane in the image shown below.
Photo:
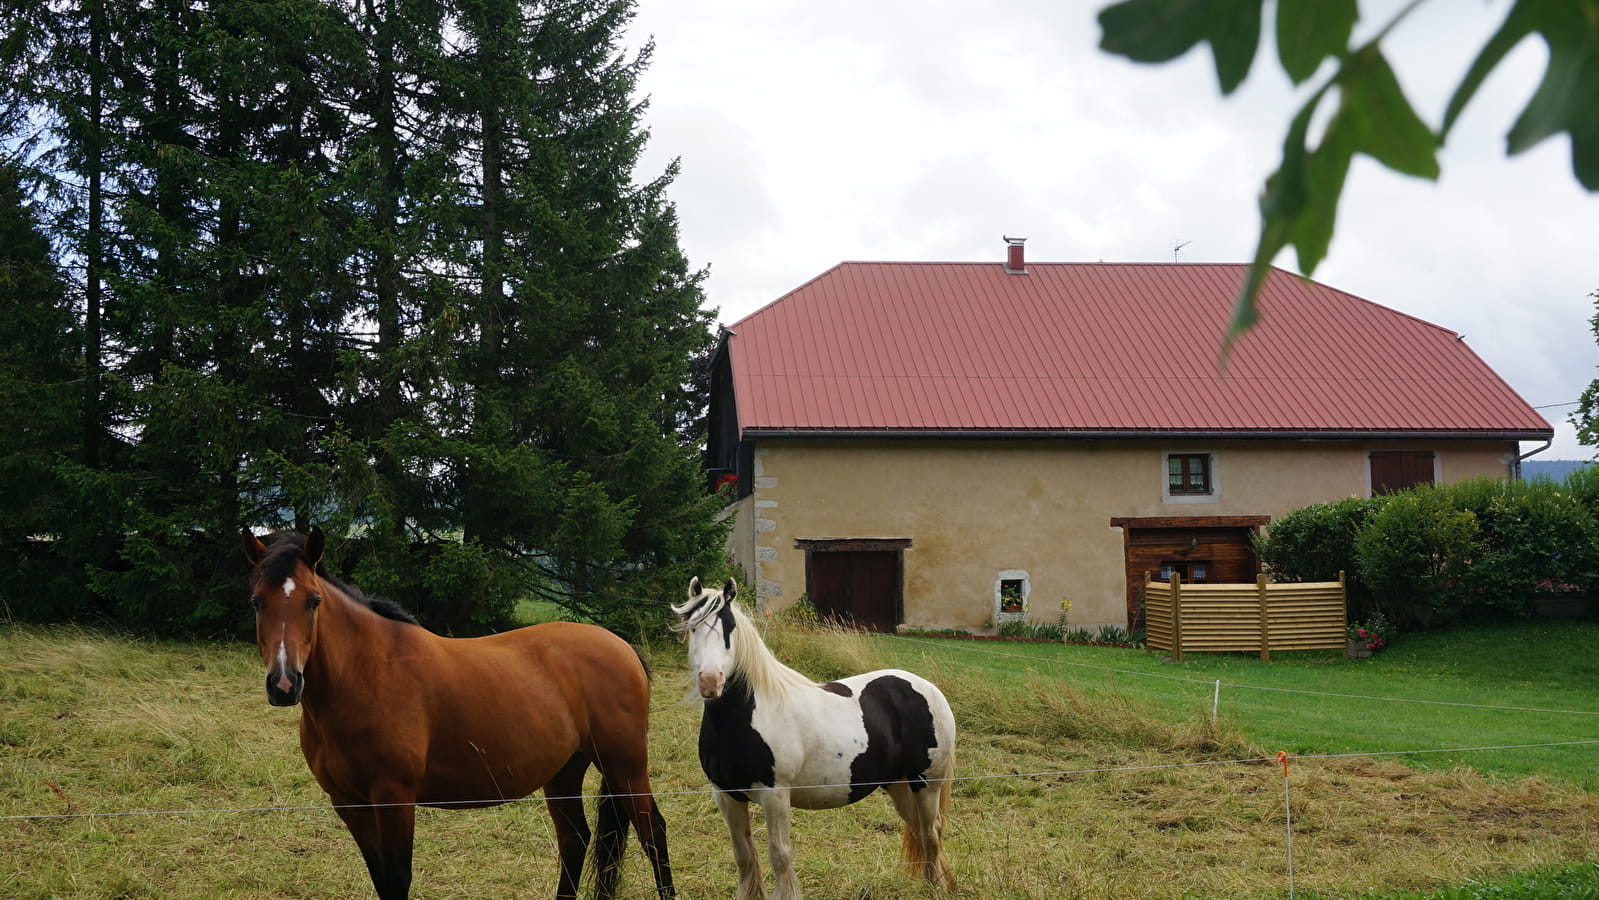
<path fill-rule="evenodd" d="M 689 671 L 705 702 L 700 766 L 732 834 L 739 900 L 761 900 L 761 863 L 750 802 L 766 814 L 777 900 L 800 900 L 788 820 L 793 807 L 836 809 L 883 788 L 905 820 L 902 862 L 934 886 L 955 889 L 943 855 L 943 817 L 955 775 L 955 715 L 931 681 L 886 668 L 817 684 L 761 641 L 723 590 L 689 582 L 673 606 L 688 635 Z"/>

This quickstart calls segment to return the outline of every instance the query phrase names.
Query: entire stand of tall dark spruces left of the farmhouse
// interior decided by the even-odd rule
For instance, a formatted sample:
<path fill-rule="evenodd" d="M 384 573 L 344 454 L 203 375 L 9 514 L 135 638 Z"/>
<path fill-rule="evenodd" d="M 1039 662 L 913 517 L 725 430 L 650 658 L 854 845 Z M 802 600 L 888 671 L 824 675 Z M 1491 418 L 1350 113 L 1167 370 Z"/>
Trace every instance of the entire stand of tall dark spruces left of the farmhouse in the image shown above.
<path fill-rule="evenodd" d="M 720 558 L 710 318 L 675 169 L 633 181 L 632 3 L 0 10 L 0 118 L 38 126 L 6 145 L 70 273 L 70 452 L 56 428 L 13 456 L 58 460 L 78 612 L 241 627 L 240 526 L 321 524 L 448 630 L 534 595 L 659 619 L 641 601 Z"/>

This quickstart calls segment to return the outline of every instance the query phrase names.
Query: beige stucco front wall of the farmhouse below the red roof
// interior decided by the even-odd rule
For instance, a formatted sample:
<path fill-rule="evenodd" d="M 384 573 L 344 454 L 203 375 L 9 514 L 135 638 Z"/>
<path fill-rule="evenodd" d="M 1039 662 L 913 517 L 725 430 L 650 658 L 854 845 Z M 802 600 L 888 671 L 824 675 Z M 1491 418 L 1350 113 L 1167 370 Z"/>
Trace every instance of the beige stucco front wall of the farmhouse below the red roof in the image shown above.
<path fill-rule="evenodd" d="M 1439 481 L 1505 476 L 1513 441 L 763 441 L 729 550 L 756 601 L 806 591 L 800 539 L 910 539 L 905 623 L 982 628 L 999 572 L 1025 571 L 1031 617 L 1126 623 L 1113 516 L 1281 516 L 1369 496 L 1367 452 L 1431 449 Z M 1172 452 L 1214 454 L 1214 496 L 1162 496 Z M 1015 575 L 1007 575 L 1015 577 Z"/>

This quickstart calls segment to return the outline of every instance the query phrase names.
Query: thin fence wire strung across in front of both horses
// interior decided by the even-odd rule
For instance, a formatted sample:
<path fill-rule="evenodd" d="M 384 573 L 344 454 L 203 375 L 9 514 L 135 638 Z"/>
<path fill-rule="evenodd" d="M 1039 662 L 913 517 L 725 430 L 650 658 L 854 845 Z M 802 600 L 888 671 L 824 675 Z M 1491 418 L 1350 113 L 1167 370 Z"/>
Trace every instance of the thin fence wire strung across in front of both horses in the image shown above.
<path fill-rule="evenodd" d="M 1313 761 L 1313 759 L 1350 759 L 1361 756 L 1414 756 L 1423 753 L 1490 753 L 1498 750 L 1537 750 L 1541 747 L 1578 747 L 1578 745 L 1599 745 L 1599 739 L 1591 740 L 1554 740 L 1546 743 L 1505 743 L 1493 747 L 1449 747 L 1449 748 L 1423 748 L 1423 750 L 1369 750 L 1354 753 L 1303 753 L 1303 755 L 1286 755 L 1279 753 L 1276 756 L 1244 756 L 1238 759 L 1199 759 L 1193 763 L 1150 763 L 1143 766 L 1100 766 L 1094 769 L 1051 769 L 1039 772 L 1006 772 L 999 775 L 953 775 L 950 779 L 927 779 L 929 785 L 937 785 L 943 782 L 950 783 L 967 783 L 967 782 L 995 782 L 1009 779 L 1063 779 L 1076 775 L 1110 775 L 1121 772 L 1156 772 L 1167 769 L 1193 769 L 1202 766 L 1247 766 L 1258 763 L 1282 763 L 1289 761 Z M 825 790 L 825 788 L 855 788 L 863 785 L 887 787 L 894 782 L 862 782 L 862 783 L 827 783 L 827 785 L 788 785 L 784 788 L 740 788 L 740 793 L 763 793 L 774 790 Z M 688 791 L 654 791 L 651 794 L 644 793 L 616 793 L 616 794 L 563 794 L 553 799 L 580 799 L 595 801 L 601 798 L 628 798 L 628 796 L 713 796 L 715 788 L 699 788 Z M 304 804 L 304 806 L 241 806 L 241 807 L 211 807 L 211 809 L 134 809 L 120 812 L 56 812 L 56 814 L 34 814 L 34 815 L 0 815 L 0 822 L 48 822 L 48 820 L 64 820 L 64 818 L 138 818 L 138 817 L 158 817 L 158 815 L 232 815 L 246 812 L 337 812 L 339 809 L 387 809 L 387 807 L 480 807 L 494 804 L 513 804 L 513 802 L 547 802 L 548 796 L 524 796 L 524 798 L 492 798 L 492 799 L 453 799 L 453 801 L 429 801 L 429 802 L 355 802 L 355 804 Z"/>

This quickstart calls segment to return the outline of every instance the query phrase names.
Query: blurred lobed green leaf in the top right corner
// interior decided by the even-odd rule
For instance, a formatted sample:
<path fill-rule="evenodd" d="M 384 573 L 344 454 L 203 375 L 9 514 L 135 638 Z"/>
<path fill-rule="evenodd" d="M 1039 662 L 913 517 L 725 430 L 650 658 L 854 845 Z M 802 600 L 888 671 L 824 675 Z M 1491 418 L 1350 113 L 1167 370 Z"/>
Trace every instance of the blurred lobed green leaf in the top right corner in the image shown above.
<path fill-rule="evenodd" d="M 1444 112 L 1441 137 L 1505 56 L 1527 35 L 1549 46 L 1543 82 L 1506 136 L 1506 152 L 1521 153 L 1545 137 L 1572 136 L 1572 173 L 1599 190 L 1599 0 L 1519 0 L 1473 61 Z"/>

